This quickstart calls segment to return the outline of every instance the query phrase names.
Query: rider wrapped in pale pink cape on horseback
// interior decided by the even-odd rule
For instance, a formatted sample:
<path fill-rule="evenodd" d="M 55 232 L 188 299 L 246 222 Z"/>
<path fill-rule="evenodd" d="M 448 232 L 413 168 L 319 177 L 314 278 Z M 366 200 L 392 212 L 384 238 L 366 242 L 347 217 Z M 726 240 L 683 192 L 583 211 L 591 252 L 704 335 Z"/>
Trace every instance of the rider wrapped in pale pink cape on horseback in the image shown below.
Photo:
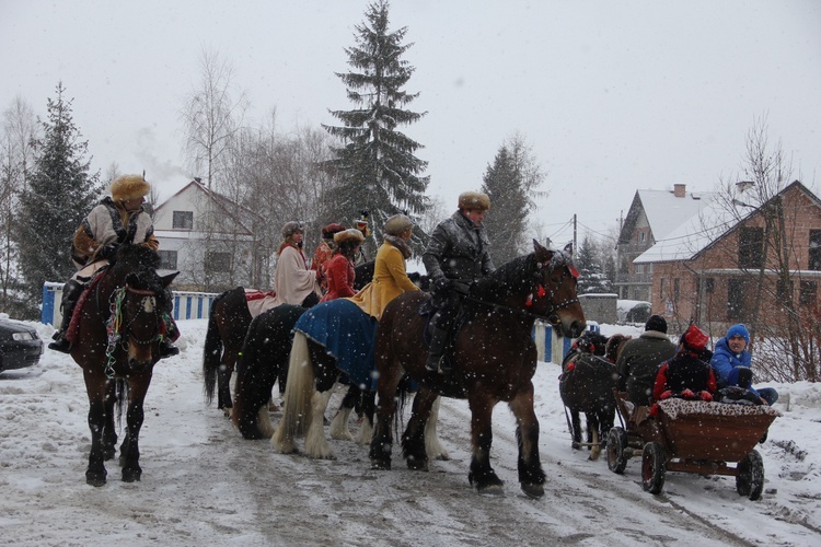
<path fill-rule="evenodd" d="M 316 272 L 308 268 L 302 253 L 303 235 L 304 230 L 299 222 L 286 222 L 282 226 L 282 243 L 274 269 L 275 306 L 293 304 L 311 307 L 320 301 L 320 281 Z"/>

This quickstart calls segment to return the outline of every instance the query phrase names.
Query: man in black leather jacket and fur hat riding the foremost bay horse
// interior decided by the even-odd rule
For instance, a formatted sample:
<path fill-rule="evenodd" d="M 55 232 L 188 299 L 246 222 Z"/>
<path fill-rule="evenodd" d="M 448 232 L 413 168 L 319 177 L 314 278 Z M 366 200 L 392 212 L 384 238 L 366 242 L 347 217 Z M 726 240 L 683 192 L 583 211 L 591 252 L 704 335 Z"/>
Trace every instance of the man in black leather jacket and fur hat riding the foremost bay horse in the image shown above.
<path fill-rule="evenodd" d="M 483 224 L 489 209 L 487 194 L 461 194 L 459 210 L 436 226 L 421 256 L 431 279 L 433 306 L 437 309 L 430 319 L 430 352 L 425 364 L 429 371 L 450 372 L 440 361 L 462 298 L 476 279 L 496 269 L 488 254 L 490 241 Z"/>

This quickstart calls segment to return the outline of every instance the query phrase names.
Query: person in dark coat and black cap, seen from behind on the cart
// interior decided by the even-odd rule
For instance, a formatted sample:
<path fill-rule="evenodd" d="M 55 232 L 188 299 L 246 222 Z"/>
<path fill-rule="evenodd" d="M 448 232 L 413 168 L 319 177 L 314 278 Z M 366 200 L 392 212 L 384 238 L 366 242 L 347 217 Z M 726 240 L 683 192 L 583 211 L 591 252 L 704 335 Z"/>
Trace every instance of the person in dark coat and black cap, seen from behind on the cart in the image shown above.
<path fill-rule="evenodd" d="M 638 338 L 627 340 L 618 353 L 618 391 L 627 392 L 627 400 L 648 406 L 656 373 L 661 363 L 675 354 L 675 345 L 667 337 L 667 321 L 652 315 Z"/>

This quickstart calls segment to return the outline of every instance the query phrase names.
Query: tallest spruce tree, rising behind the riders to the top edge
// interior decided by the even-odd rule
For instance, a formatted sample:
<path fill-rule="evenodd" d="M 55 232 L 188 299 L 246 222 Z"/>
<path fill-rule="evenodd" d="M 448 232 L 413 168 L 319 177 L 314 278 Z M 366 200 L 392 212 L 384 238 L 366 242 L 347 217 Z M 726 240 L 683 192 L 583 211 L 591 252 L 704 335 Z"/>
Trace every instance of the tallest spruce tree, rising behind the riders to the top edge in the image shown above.
<path fill-rule="evenodd" d="M 324 199 L 334 203 L 340 219 L 354 219 L 368 210 L 377 241 L 388 217 L 425 212 L 430 178 L 420 176 L 427 162 L 414 155 L 421 144 L 396 129 L 427 113 L 404 109 L 419 95 L 403 91 L 415 69 L 402 55 L 413 44 L 402 44 L 407 27 L 388 31 L 388 10 L 384 0 L 369 4 L 367 21 L 356 26 L 357 45 L 345 49 L 354 71 L 336 73 L 358 107 L 331 110 L 343 126 L 323 126 L 343 143 L 333 148 L 334 159 L 326 163 L 339 184 Z M 412 245 L 418 248 L 423 238 Z"/>

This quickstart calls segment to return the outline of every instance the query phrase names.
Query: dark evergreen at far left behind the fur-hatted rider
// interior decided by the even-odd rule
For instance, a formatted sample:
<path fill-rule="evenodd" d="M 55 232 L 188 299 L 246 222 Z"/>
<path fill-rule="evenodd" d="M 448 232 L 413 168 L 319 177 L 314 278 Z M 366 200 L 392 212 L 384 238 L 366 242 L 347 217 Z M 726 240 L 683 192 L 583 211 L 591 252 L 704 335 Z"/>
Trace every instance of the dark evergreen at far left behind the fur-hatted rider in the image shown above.
<path fill-rule="evenodd" d="M 73 274 L 74 231 L 102 190 L 99 174 L 89 174 L 88 142 L 80 141 L 63 93 L 60 82 L 57 97 L 48 100 L 48 119 L 41 121 L 43 137 L 32 142 L 34 168 L 20 200 L 20 270 L 24 291 L 36 303 L 45 281 L 63 281 Z M 36 316 L 36 307 L 31 311 Z"/>

